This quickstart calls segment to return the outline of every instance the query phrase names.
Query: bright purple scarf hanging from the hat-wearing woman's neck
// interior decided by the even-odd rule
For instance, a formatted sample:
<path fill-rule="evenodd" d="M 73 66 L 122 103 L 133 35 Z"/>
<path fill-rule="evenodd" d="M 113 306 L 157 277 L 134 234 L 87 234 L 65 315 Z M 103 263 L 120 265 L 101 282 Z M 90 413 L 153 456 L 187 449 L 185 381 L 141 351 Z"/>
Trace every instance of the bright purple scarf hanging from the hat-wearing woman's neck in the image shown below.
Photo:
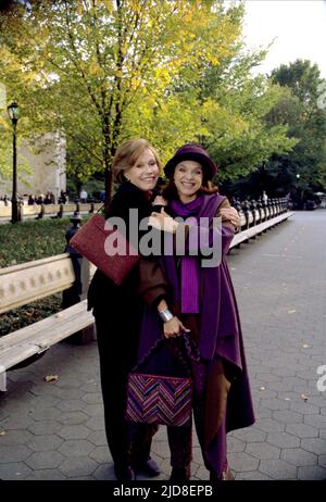
<path fill-rule="evenodd" d="M 184 204 L 173 200 L 170 204 L 174 216 L 183 218 L 193 217 L 198 223 L 197 216 L 203 204 L 203 196 L 199 196 L 191 202 Z M 190 222 L 189 222 L 190 223 Z M 191 223 L 190 223 L 191 224 Z M 199 263 L 198 256 L 181 256 L 181 313 L 199 313 Z"/>

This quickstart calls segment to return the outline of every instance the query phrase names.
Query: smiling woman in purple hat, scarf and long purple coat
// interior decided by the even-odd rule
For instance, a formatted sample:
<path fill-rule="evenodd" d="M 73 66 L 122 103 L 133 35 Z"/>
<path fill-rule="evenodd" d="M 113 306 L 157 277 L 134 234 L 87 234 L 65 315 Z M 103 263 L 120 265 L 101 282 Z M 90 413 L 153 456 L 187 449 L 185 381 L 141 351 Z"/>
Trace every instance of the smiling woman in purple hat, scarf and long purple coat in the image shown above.
<path fill-rule="evenodd" d="M 252 425 L 254 414 L 239 313 L 226 263 L 235 233 L 234 225 L 225 216 L 230 205 L 211 185 L 216 166 L 202 147 L 183 146 L 164 171 L 170 179 L 163 192 L 166 211 L 153 213 L 149 221 L 154 228 L 174 236 L 174 254 L 160 258 L 172 287 L 172 298 L 167 303 L 163 300 L 159 310 L 166 319 L 177 316 L 198 343 L 200 362 L 191 362 L 197 435 L 210 479 L 231 479 L 226 434 Z M 216 216 L 222 216 L 222 224 Z M 188 219 L 180 223 L 177 217 Z M 163 325 L 166 338 L 180 335 L 175 330 L 168 332 L 167 326 L 168 323 Z M 161 337 L 162 322 L 158 311 L 148 306 L 140 332 L 139 360 Z M 191 424 L 168 427 L 167 435 L 173 467 L 171 479 L 187 480 L 190 477 Z"/>

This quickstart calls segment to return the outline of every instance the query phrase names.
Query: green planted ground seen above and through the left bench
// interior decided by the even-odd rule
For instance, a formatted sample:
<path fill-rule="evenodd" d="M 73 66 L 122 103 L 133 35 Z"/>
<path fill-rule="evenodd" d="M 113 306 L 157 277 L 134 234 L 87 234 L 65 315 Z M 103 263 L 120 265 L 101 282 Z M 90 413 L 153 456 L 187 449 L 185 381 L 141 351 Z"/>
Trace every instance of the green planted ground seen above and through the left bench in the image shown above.
<path fill-rule="evenodd" d="M 70 218 L 0 225 L 0 267 L 61 254 Z M 36 323 L 61 310 L 61 293 L 0 314 L 0 336 Z"/>

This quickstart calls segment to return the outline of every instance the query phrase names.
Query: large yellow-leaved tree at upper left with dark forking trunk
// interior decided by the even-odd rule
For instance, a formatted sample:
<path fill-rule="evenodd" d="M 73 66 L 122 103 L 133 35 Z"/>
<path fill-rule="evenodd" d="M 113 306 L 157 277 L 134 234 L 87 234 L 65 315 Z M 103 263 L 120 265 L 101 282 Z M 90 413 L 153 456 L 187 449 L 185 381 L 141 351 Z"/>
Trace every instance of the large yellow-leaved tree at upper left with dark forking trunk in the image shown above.
<path fill-rule="evenodd" d="M 160 104 L 185 63 L 217 64 L 237 36 L 213 3 L 46 0 L 2 16 L 1 70 L 29 130 L 62 129 L 77 158 L 91 158 L 80 175 L 103 170 L 110 187 L 111 160 L 123 124 L 128 135 L 133 105 L 145 96 Z"/>

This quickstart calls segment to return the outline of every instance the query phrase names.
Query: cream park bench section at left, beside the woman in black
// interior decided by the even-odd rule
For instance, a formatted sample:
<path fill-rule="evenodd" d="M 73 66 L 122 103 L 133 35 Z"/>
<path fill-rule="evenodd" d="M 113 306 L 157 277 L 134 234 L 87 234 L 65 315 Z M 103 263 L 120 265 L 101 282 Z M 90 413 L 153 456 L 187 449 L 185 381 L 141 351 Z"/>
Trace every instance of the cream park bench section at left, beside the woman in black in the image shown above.
<path fill-rule="evenodd" d="M 95 266 L 82 260 L 82 299 Z M 0 314 L 71 288 L 75 281 L 68 253 L 0 268 Z M 84 341 L 93 338 L 93 316 L 87 300 L 42 321 L 0 337 L 0 390 L 7 390 L 7 371 L 39 356 L 54 343 L 84 330 Z"/>

